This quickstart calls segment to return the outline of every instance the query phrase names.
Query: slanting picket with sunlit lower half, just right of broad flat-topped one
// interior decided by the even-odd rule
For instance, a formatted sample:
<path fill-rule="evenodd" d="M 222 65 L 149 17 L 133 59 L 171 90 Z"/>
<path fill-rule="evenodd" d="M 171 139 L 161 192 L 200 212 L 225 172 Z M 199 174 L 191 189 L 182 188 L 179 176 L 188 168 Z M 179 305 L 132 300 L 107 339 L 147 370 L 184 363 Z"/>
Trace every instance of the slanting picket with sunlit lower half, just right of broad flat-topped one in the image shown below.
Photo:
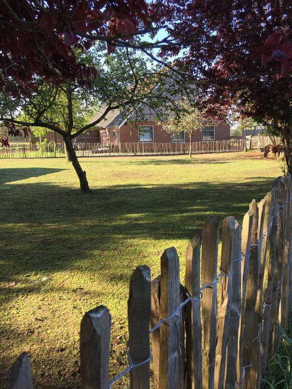
<path fill-rule="evenodd" d="M 234 240 L 235 219 L 226 217 L 222 227 L 222 252 L 220 273 L 225 275 L 219 279 L 218 317 L 216 323 L 216 357 L 214 387 L 225 387 L 225 366 L 227 341 L 229 333 L 229 316 L 232 299 L 232 255 Z M 212 386 L 213 387 L 213 386 Z"/>

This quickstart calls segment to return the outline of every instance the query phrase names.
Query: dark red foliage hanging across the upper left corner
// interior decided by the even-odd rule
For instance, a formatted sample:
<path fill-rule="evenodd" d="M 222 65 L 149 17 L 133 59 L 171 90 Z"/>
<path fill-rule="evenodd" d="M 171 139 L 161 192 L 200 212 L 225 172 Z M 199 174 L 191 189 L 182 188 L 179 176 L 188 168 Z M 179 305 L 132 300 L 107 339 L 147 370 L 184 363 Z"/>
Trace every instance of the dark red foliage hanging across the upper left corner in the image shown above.
<path fill-rule="evenodd" d="M 88 49 L 91 36 L 129 36 L 149 23 L 144 0 L 0 1 L 0 88 L 29 96 L 38 74 L 51 83 L 82 82 L 95 69 L 78 63 L 72 46 Z M 86 36 L 86 38 L 85 38 Z M 113 51 L 108 41 L 109 51 Z"/>

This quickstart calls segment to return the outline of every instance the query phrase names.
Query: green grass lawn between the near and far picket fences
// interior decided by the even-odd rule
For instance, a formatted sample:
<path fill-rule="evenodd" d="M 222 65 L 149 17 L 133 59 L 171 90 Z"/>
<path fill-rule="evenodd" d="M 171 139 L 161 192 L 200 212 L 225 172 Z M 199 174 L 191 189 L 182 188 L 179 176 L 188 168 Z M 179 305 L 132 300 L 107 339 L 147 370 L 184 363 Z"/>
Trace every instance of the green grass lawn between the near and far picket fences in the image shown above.
<path fill-rule="evenodd" d="M 63 159 L 0 161 L 2 388 L 22 351 L 35 388 L 79 387 L 80 321 L 100 304 L 113 320 L 111 376 L 122 370 L 132 270 L 147 264 L 155 278 L 175 246 L 183 279 L 188 240 L 208 215 L 241 223 L 281 175 L 275 158 L 252 152 L 80 161 L 91 195 Z"/>

